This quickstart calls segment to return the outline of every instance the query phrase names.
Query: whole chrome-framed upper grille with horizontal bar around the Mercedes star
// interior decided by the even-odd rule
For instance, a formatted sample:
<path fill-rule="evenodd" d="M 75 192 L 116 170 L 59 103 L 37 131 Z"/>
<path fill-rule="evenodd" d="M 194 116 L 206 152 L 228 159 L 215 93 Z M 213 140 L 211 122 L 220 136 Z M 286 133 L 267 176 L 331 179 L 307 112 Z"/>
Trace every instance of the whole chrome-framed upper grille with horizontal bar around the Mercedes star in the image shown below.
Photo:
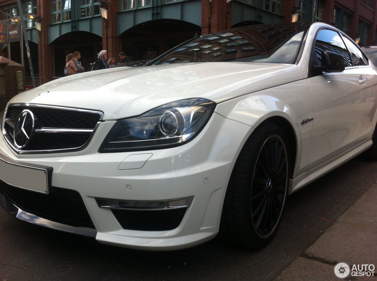
<path fill-rule="evenodd" d="M 26 144 L 14 140 L 14 130 L 20 114 L 28 109 L 34 115 L 34 127 L 28 125 L 32 135 Z M 18 153 L 53 153 L 81 150 L 87 146 L 103 118 L 99 111 L 58 108 L 42 105 L 12 105 L 5 115 L 3 135 Z M 31 119 L 32 120 L 32 119 Z"/>

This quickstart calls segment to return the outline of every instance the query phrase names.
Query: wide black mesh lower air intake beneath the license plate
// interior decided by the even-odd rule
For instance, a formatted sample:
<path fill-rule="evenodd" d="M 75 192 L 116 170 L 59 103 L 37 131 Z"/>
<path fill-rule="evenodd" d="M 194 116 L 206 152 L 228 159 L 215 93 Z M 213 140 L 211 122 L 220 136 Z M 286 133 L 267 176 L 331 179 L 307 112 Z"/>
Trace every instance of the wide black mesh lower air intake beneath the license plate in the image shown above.
<path fill-rule="evenodd" d="M 0 180 L 0 192 L 23 211 L 75 227 L 95 228 L 80 193 L 52 187 L 49 194 L 13 187 Z"/>

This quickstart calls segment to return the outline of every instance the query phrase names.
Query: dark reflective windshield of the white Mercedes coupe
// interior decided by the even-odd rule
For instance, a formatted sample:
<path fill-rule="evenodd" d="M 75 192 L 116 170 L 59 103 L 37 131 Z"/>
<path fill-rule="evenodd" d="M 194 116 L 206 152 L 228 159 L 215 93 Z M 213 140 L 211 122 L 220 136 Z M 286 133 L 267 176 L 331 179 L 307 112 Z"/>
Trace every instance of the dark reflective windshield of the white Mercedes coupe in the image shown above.
<path fill-rule="evenodd" d="M 239 61 L 294 64 L 308 26 L 256 26 L 194 38 L 152 62 Z"/>

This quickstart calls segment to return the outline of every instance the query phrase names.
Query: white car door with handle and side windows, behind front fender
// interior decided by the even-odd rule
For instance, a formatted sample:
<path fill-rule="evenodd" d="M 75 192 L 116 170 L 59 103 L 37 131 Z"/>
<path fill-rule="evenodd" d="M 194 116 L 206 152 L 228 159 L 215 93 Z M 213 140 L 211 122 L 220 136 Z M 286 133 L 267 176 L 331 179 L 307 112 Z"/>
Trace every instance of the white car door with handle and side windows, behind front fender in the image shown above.
<path fill-rule="evenodd" d="M 324 64 L 325 50 L 344 57 L 343 72 L 314 73 L 313 65 Z M 375 71 L 356 44 L 335 30 L 321 29 L 312 52 L 312 77 L 308 80 L 314 112 L 309 169 L 371 137 L 376 110 Z"/>

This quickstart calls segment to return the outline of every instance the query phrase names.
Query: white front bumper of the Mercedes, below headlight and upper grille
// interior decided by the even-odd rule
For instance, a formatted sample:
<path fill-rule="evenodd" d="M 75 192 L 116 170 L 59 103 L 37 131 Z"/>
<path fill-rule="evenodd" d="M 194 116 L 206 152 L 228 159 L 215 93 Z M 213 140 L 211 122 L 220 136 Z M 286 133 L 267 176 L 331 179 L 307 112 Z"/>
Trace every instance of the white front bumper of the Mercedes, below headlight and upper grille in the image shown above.
<path fill-rule="evenodd" d="M 53 211 L 48 211 L 47 216 L 38 212 L 34 214 L 17 203 L 15 198 L 19 196 L 10 196 L 12 192 L 5 192 L 4 188 L 0 189 L 0 205 L 18 219 L 95 236 L 101 243 L 127 248 L 181 249 L 213 238 L 219 229 L 222 202 L 234 162 L 252 128 L 213 114 L 203 131 L 182 146 L 143 152 L 98 153 L 98 147 L 113 124 L 114 122 L 102 122 L 89 145 L 84 150 L 71 153 L 17 155 L 3 138 L 0 138 L 2 159 L 14 164 L 53 168 L 51 193 L 37 194 L 37 198 L 43 197 L 45 201 L 41 205 L 45 206 L 53 200 L 61 200 L 60 204 L 65 205 L 64 201 L 71 200 L 74 195 L 60 196 L 60 191 L 68 194 L 72 191 L 82 199 L 80 203 L 77 198 L 73 205 L 82 204 L 84 210 L 63 208 L 61 214 L 56 215 L 60 216 L 60 219 L 55 218 Z M 16 191 L 20 189 L 8 188 Z M 24 196 L 28 197 L 27 194 Z M 54 196 L 56 198 L 53 198 Z M 128 227 L 127 223 L 122 222 L 115 214 L 113 208 L 101 207 L 98 203 L 104 200 L 159 202 L 182 198 L 192 198 L 192 202 L 184 212 L 180 211 L 172 216 L 175 220 L 178 216 L 178 226 L 162 228 L 163 230 L 145 230 L 143 220 L 152 220 L 154 225 L 160 225 L 155 222 L 155 217 L 160 218 L 161 222 L 167 220 L 164 216 L 171 210 L 127 210 L 127 215 L 122 213 L 123 210 L 116 210 L 125 220 L 138 217 L 137 212 L 141 212 L 141 219 L 136 223 L 141 224 L 138 228 Z M 51 208 L 54 205 L 52 204 Z M 69 214 L 70 212 L 74 214 Z M 75 217 L 77 213 L 83 215 L 85 212 L 92 226 L 90 223 L 85 224 L 87 221 L 67 222 L 70 215 Z M 145 215 L 146 212 L 154 214 L 149 217 L 148 214 Z M 168 217 L 170 219 L 170 216 Z"/>

